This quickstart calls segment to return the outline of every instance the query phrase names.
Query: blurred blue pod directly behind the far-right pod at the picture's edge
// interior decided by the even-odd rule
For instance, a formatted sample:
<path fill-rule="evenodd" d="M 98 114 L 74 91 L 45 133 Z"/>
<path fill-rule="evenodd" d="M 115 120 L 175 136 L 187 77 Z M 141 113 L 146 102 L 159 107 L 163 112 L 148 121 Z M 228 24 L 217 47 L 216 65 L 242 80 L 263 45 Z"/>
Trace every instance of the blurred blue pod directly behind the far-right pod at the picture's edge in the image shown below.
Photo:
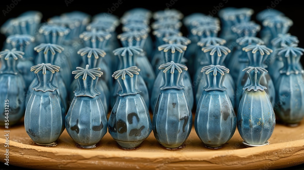
<path fill-rule="evenodd" d="M 274 48 L 274 52 L 266 60 L 266 65 L 268 65 L 268 72 L 271 76 L 273 82 L 277 82 L 280 77 L 280 70 L 284 67 L 284 61 L 281 55 L 278 55 L 279 49 L 283 46 L 289 46 L 291 44 L 298 44 L 298 37 L 292 36 L 290 33 L 278 34 L 277 38 L 271 40 L 271 44 Z M 301 63 L 298 63 L 301 65 Z"/>

